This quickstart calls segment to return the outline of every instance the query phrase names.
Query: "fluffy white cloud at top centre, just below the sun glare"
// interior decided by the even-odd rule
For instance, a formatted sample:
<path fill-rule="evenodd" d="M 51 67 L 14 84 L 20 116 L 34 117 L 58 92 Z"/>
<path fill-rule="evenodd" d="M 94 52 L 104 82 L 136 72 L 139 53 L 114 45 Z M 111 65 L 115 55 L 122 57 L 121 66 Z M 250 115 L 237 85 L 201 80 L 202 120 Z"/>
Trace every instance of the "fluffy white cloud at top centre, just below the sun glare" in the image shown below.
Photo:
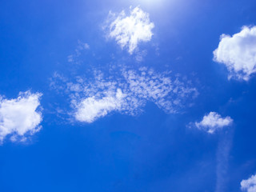
<path fill-rule="evenodd" d="M 110 22 L 107 27 L 109 37 L 114 38 L 123 48 L 128 48 L 128 52 L 133 54 L 139 42 L 149 42 L 153 35 L 154 23 L 150 22 L 150 16 L 138 6 L 131 10 L 130 15 L 122 10 L 120 14 L 110 12 Z"/>

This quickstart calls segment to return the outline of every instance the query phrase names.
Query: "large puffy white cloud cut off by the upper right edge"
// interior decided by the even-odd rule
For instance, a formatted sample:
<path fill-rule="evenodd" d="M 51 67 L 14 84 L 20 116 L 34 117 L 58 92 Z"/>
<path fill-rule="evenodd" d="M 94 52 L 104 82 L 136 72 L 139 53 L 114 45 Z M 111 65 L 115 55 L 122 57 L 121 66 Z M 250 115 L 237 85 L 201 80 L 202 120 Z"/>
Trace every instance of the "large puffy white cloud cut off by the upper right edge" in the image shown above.
<path fill-rule="evenodd" d="M 222 34 L 214 60 L 226 65 L 229 78 L 248 81 L 256 72 L 256 26 L 244 26 L 232 37 Z"/>

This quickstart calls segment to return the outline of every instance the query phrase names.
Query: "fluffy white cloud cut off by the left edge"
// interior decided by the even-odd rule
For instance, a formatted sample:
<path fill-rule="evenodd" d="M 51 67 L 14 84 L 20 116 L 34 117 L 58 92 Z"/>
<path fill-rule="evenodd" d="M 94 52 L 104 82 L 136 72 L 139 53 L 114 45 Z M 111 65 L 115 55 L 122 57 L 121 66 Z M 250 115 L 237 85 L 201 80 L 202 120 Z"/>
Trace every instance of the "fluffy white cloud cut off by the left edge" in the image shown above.
<path fill-rule="evenodd" d="M 34 134 L 40 130 L 42 114 L 37 112 L 42 94 L 20 93 L 18 98 L 0 98 L 0 142 L 12 134 L 11 140 L 26 139 L 25 134 Z"/>

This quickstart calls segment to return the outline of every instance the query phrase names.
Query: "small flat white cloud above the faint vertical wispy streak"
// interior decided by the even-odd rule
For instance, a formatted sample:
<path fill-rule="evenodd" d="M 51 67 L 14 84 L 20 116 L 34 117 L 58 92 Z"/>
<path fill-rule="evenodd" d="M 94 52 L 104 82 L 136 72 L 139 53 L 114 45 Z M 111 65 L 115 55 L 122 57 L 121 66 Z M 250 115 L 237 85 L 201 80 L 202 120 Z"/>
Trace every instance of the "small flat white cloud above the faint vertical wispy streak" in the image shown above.
<path fill-rule="evenodd" d="M 222 129 L 224 126 L 230 126 L 233 122 L 233 119 L 229 116 L 222 118 L 220 114 L 216 112 L 210 112 L 206 114 L 201 122 L 196 122 L 195 126 L 200 130 L 206 130 L 209 134 L 214 134 L 216 130 Z"/>

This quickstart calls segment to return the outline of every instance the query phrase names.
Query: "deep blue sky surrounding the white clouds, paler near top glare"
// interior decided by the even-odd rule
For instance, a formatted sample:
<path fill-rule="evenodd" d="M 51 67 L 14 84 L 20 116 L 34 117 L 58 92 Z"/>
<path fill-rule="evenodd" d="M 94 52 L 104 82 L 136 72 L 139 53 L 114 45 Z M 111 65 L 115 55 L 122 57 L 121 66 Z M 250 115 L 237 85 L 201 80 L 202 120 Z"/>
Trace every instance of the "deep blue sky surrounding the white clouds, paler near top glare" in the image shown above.
<path fill-rule="evenodd" d="M 106 41 L 102 30 L 110 10 L 138 5 L 155 25 L 152 41 L 142 43 L 148 51 L 142 63 Z M 30 143 L 6 140 L 0 146 L 0 191 L 215 191 L 218 149 L 225 139 L 230 151 L 224 191 L 240 191 L 242 179 L 256 173 L 256 77 L 229 81 L 213 51 L 221 34 L 256 25 L 255 10 L 254 0 L 166 0 L 158 6 L 113 0 L 0 2 L 0 94 L 42 92 L 44 109 L 42 130 Z M 82 52 L 81 65 L 72 66 L 67 56 L 78 40 L 90 50 Z M 69 108 L 50 89 L 55 71 L 72 78 L 86 75 L 91 66 L 106 70 L 110 62 L 172 70 L 193 82 L 198 98 L 182 114 L 165 114 L 149 102 L 138 117 L 111 114 L 92 124 L 53 113 L 57 102 Z M 210 111 L 230 116 L 234 125 L 214 135 L 188 128 Z"/>

